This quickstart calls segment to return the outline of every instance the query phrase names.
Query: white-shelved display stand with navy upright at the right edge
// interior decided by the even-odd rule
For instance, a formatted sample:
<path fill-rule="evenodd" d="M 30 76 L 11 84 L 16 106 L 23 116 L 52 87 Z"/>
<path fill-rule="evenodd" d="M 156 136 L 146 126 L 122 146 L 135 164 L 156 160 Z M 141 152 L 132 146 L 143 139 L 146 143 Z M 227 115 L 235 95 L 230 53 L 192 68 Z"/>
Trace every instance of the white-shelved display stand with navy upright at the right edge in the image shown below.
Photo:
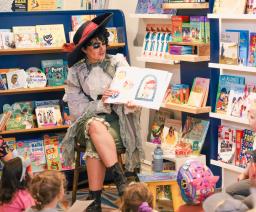
<path fill-rule="evenodd" d="M 214 1 L 210 0 L 210 11 L 213 11 Z M 211 29 L 211 106 L 210 113 L 210 145 L 211 145 L 211 166 L 215 175 L 222 174 L 222 188 L 237 181 L 239 173 L 243 172 L 243 168 L 231 164 L 225 164 L 217 160 L 218 155 L 218 126 L 225 125 L 238 129 L 250 129 L 248 120 L 235 118 L 228 115 L 218 114 L 214 112 L 216 105 L 216 95 L 218 90 L 219 75 L 228 74 L 235 76 L 244 76 L 246 83 L 255 84 L 256 68 L 238 65 L 227 65 L 219 63 L 219 35 L 226 29 L 247 29 L 251 32 L 255 31 L 256 16 L 251 14 L 208 14 Z M 220 167 L 220 168 L 217 168 Z M 221 173 L 222 172 L 222 173 Z"/>

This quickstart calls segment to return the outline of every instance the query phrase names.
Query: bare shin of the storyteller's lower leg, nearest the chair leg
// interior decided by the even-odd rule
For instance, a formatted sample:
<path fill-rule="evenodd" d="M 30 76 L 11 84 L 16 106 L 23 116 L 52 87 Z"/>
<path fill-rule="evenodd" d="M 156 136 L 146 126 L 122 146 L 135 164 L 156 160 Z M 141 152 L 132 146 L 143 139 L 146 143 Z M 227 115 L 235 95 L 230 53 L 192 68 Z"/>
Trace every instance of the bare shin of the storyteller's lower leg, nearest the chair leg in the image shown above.
<path fill-rule="evenodd" d="M 105 178 L 106 168 L 101 160 L 96 158 L 86 158 L 86 168 L 89 180 L 90 191 L 101 190 Z"/>

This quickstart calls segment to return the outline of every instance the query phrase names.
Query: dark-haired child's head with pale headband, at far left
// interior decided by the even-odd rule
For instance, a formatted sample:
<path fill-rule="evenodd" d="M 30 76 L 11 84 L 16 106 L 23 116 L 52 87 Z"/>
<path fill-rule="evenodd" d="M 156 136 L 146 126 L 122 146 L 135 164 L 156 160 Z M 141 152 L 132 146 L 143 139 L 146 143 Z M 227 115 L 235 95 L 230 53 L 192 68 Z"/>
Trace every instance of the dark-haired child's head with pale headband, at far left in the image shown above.
<path fill-rule="evenodd" d="M 9 203 L 15 192 L 25 189 L 26 166 L 20 157 L 5 162 L 0 183 L 0 204 Z"/>

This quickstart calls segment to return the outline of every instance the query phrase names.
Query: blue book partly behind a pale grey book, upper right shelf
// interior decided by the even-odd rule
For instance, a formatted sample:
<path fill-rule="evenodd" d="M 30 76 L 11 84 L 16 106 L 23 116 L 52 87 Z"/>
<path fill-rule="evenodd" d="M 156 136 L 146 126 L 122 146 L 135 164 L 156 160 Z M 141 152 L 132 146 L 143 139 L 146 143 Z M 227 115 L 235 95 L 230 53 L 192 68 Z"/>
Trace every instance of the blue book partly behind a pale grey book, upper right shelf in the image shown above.
<path fill-rule="evenodd" d="M 249 52 L 249 31 L 248 30 L 236 30 L 230 29 L 226 30 L 227 32 L 239 32 L 239 56 L 238 63 L 239 65 L 247 66 L 248 61 L 248 52 Z"/>

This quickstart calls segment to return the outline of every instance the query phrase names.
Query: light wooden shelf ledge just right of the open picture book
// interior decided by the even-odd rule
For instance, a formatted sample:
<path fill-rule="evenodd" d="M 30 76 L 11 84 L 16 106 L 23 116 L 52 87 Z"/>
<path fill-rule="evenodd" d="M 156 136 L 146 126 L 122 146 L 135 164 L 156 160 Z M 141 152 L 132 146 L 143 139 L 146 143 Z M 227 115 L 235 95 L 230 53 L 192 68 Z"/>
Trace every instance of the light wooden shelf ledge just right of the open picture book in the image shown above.
<path fill-rule="evenodd" d="M 176 110 L 186 113 L 193 113 L 193 114 L 200 114 L 200 113 L 209 113 L 211 111 L 210 106 L 206 107 L 192 107 L 186 104 L 163 104 L 163 109 L 170 109 L 170 110 Z"/>

